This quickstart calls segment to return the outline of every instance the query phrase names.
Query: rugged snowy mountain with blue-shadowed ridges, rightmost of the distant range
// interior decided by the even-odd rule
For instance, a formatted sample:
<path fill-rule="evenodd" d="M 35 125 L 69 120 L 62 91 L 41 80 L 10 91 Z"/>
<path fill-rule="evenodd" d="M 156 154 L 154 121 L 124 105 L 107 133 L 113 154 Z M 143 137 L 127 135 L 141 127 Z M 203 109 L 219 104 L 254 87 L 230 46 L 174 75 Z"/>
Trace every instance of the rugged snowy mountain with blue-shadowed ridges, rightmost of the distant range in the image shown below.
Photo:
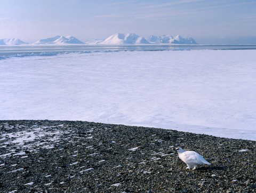
<path fill-rule="evenodd" d="M 175 37 L 171 35 L 149 36 L 146 39 L 150 43 L 158 44 L 197 44 L 193 38 L 183 38 L 180 35 L 177 35 Z"/>

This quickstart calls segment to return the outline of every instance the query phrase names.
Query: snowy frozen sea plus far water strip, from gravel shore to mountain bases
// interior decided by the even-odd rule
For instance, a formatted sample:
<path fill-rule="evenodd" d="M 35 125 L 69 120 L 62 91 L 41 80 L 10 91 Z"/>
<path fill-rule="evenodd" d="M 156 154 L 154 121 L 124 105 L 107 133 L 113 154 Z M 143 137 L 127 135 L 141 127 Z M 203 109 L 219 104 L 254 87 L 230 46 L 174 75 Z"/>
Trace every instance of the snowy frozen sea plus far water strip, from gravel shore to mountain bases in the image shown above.
<path fill-rule="evenodd" d="M 255 46 L 0 46 L 0 119 L 256 140 Z"/>

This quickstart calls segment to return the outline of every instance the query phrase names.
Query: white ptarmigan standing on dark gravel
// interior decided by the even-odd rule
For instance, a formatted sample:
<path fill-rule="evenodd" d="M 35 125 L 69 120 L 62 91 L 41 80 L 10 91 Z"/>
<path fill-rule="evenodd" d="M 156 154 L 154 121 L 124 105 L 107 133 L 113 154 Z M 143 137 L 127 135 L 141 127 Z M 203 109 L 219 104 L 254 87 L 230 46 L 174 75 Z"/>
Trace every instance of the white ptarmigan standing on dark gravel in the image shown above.
<path fill-rule="evenodd" d="M 211 165 L 196 151 L 185 151 L 182 148 L 176 148 L 175 150 L 178 151 L 179 158 L 187 164 L 187 169 L 193 168 L 193 170 L 196 170 L 198 164 Z"/>

